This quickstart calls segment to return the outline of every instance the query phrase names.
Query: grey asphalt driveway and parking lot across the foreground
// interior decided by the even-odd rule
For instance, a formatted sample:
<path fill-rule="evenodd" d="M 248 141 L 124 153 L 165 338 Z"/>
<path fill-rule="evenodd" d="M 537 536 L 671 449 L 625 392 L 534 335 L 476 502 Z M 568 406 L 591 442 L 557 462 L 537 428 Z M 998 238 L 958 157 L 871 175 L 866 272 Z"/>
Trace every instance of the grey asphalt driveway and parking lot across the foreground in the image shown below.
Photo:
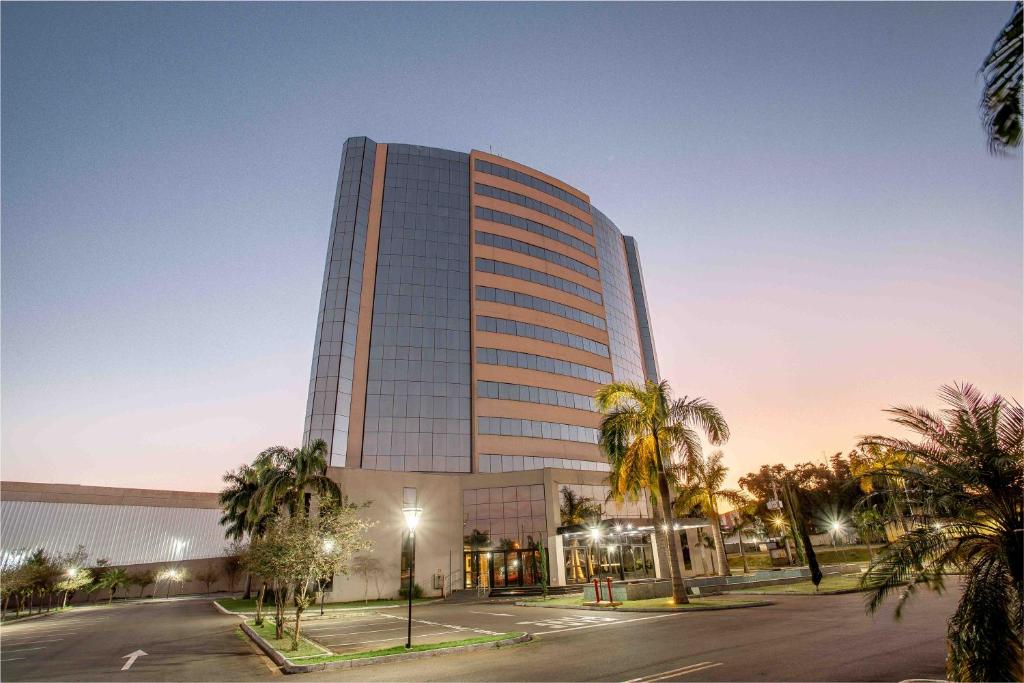
<path fill-rule="evenodd" d="M 952 587 L 950 587 L 952 589 Z M 959 591 L 864 611 L 862 595 L 777 596 L 703 612 L 593 612 L 508 603 L 418 604 L 413 642 L 525 631 L 532 642 L 352 670 L 325 681 L 899 681 L 943 678 L 946 620 Z M 406 610 L 309 620 L 336 651 L 404 643 Z M 430 635 L 435 634 L 435 635 Z M 375 642 L 365 642 L 375 641 Z M 38 649 L 36 649 L 38 648 Z M 131 653 L 142 650 L 130 666 Z M 254 681 L 281 678 L 209 599 L 76 608 L 0 627 L 3 681 Z M 127 668 L 126 668 L 127 666 Z"/>

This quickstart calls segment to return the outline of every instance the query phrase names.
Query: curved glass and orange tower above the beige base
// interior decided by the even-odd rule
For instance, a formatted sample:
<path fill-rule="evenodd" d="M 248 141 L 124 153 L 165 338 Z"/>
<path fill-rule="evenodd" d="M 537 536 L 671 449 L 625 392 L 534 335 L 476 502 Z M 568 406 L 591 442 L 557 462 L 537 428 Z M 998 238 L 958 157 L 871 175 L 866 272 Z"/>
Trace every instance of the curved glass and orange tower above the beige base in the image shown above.
<path fill-rule="evenodd" d="M 352 138 L 342 161 L 306 440 L 349 468 L 603 471 L 594 392 L 657 374 L 636 243 L 493 155 Z"/>

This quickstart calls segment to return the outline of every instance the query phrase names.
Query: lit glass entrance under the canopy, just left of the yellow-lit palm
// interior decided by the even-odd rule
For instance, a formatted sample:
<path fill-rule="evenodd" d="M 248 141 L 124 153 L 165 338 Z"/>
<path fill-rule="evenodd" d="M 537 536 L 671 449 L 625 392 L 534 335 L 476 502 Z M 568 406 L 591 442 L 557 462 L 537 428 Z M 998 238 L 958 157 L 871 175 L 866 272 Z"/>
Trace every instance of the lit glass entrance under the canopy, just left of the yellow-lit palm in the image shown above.
<path fill-rule="evenodd" d="M 562 526 L 565 583 L 586 584 L 594 579 L 615 581 L 654 579 L 652 526 L 626 520 L 604 520 L 598 526 Z"/>

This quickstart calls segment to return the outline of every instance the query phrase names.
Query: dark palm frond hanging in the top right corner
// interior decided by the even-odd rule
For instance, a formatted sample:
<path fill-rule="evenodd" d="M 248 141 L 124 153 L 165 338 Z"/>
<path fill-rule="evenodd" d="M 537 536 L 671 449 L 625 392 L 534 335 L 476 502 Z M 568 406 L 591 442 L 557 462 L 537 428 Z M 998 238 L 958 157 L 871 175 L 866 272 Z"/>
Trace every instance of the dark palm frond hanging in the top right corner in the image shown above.
<path fill-rule="evenodd" d="M 988 132 L 988 147 L 1002 154 L 1021 143 L 1021 72 L 1024 48 L 1021 42 L 1022 4 L 1014 4 L 1014 14 L 982 65 L 985 92 L 982 116 Z"/>

